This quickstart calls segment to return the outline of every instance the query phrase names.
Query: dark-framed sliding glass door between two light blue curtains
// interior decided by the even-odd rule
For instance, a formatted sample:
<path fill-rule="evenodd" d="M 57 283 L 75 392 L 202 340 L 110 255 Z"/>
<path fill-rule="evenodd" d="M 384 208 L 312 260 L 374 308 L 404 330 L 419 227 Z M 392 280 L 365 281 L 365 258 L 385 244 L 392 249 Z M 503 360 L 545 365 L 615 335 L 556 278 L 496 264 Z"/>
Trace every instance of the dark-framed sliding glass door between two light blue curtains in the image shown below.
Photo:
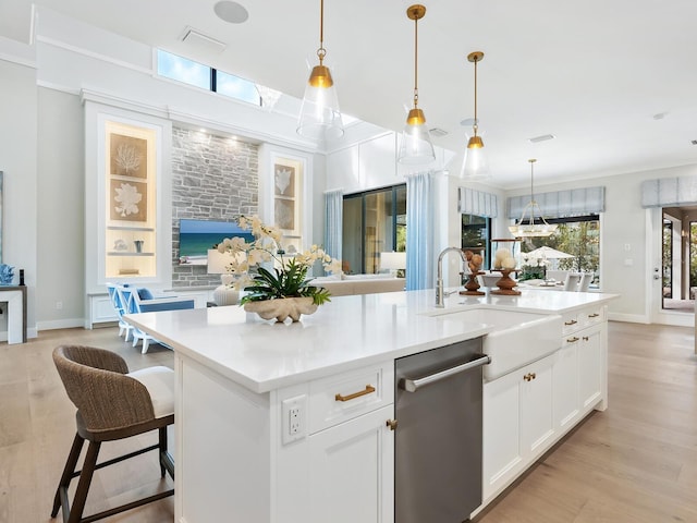
<path fill-rule="evenodd" d="M 406 185 L 344 196 L 343 270 L 376 273 L 380 253 L 406 251 Z"/>

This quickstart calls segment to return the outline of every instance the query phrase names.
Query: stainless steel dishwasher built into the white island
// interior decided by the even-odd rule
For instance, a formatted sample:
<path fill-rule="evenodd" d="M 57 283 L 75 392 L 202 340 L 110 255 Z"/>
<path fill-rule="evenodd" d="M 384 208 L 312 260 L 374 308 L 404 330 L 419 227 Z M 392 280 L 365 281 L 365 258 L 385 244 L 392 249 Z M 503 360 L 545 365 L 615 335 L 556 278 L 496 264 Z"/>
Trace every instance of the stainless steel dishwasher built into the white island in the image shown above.
<path fill-rule="evenodd" d="M 394 521 L 461 523 L 481 504 L 481 339 L 395 361 Z"/>

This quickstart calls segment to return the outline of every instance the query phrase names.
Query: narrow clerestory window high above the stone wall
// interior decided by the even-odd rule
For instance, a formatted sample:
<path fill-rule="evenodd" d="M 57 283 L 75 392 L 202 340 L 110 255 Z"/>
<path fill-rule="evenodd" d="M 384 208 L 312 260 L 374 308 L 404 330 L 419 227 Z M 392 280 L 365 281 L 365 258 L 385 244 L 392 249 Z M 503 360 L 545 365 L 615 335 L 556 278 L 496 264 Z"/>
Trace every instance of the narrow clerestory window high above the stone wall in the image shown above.
<path fill-rule="evenodd" d="M 162 49 L 157 50 L 157 74 L 229 96 L 236 100 L 261 106 L 261 96 L 254 82 L 218 71 Z"/>

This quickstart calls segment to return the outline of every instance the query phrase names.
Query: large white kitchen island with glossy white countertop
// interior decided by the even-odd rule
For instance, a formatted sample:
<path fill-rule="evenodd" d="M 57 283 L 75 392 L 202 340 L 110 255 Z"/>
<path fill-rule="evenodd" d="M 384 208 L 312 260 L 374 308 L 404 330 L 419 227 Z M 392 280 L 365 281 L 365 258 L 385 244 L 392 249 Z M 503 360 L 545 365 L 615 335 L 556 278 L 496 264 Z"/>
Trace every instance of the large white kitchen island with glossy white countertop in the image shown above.
<path fill-rule="evenodd" d="M 237 306 L 130 316 L 175 352 L 175 521 L 392 522 L 394 360 L 494 330 L 452 313 L 559 315 L 568 325 L 558 351 L 485 382 L 486 504 L 590 409 L 604 409 L 613 297 L 455 294 L 437 309 L 427 290 L 335 297 L 297 324 Z M 584 338 L 592 351 L 575 345 Z M 594 388 L 583 400 L 582 369 Z M 512 380 L 518 374 L 530 390 Z M 521 412 L 529 426 L 514 426 Z"/>

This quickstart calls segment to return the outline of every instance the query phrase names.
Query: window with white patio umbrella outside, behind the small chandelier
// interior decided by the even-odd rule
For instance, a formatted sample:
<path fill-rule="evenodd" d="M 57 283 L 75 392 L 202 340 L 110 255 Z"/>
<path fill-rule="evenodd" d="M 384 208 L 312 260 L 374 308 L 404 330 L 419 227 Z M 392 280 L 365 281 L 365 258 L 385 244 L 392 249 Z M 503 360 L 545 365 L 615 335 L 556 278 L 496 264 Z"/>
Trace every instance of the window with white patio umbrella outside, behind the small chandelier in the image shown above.
<path fill-rule="evenodd" d="M 570 258 L 548 259 L 547 269 L 594 272 L 594 287 L 600 284 L 600 219 L 598 215 L 548 219 L 557 223 L 549 238 L 525 238 L 521 251 L 529 253 L 543 245 L 568 254 Z"/>

